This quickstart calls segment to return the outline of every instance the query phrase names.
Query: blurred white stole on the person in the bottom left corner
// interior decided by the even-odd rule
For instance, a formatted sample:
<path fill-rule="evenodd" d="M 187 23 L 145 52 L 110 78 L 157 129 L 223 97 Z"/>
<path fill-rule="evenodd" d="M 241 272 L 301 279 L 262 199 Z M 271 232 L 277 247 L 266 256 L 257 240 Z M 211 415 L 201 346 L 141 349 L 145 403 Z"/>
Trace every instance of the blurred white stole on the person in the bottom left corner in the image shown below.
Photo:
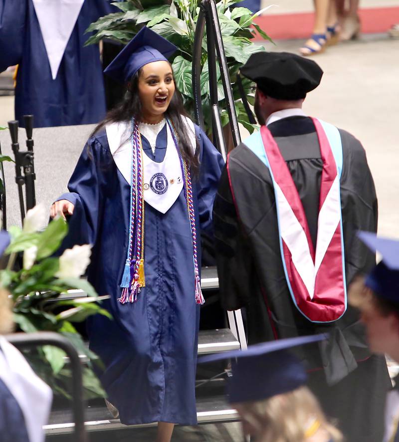
<path fill-rule="evenodd" d="M 0 379 L 22 411 L 29 436 L 28 442 L 43 442 L 42 427 L 47 424 L 50 415 L 51 389 L 33 372 L 25 358 L 3 336 L 0 336 L 0 347 L 2 350 L 0 351 Z"/>

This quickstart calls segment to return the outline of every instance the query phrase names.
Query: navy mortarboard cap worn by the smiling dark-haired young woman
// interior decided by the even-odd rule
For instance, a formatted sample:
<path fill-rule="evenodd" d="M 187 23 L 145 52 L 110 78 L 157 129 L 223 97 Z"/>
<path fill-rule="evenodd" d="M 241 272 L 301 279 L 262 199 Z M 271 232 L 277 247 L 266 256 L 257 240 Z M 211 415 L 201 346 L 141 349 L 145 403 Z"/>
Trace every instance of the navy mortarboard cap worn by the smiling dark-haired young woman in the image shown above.
<path fill-rule="evenodd" d="M 177 47 L 148 27 L 143 27 L 106 67 L 104 73 L 125 83 L 145 64 L 168 61 Z"/>

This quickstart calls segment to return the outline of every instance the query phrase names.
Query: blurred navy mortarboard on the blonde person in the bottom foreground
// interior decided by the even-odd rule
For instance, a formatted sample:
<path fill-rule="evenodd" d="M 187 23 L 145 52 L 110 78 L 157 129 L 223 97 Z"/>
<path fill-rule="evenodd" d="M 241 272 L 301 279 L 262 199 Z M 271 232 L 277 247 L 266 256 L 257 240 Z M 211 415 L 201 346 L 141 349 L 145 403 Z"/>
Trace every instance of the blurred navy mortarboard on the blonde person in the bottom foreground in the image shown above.
<path fill-rule="evenodd" d="M 307 380 L 305 368 L 288 349 L 325 337 L 320 334 L 263 342 L 247 350 L 204 356 L 199 362 L 236 358 L 231 361 L 232 377 L 227 385 L 229 402 L 260 401 L 304 385 Z"/>

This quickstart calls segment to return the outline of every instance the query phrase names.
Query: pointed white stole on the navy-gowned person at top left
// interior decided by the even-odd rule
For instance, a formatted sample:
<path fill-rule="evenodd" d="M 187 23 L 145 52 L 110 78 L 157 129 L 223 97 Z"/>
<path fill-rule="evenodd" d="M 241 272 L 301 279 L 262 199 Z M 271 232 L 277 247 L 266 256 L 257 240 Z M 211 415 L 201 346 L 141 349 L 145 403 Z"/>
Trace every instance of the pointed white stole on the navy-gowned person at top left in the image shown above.
<path fill-rule="evenodd" d="M 17 1 L 17 0 L 16 0 Z M 32 0 L 55 80 L 84 0 Z"/>

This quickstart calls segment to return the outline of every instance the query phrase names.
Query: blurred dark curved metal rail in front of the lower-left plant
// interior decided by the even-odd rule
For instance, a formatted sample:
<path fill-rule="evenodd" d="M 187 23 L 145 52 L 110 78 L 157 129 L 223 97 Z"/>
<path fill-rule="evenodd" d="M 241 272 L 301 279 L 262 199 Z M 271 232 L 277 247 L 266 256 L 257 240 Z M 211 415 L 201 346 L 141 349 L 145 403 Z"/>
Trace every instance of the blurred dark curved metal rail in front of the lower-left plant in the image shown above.
<path fill-rule="evenodd" d="M 87 442 L 87 434 L 84 427 L 82 367 L 75 347 L 63 336 L 52 332 L 14 333 L 5 335 L 5 338 L 18 349 L 53 345 L 66 353 L 72 370 L 72 411 L 75 421 L 74 441 Z"/>

